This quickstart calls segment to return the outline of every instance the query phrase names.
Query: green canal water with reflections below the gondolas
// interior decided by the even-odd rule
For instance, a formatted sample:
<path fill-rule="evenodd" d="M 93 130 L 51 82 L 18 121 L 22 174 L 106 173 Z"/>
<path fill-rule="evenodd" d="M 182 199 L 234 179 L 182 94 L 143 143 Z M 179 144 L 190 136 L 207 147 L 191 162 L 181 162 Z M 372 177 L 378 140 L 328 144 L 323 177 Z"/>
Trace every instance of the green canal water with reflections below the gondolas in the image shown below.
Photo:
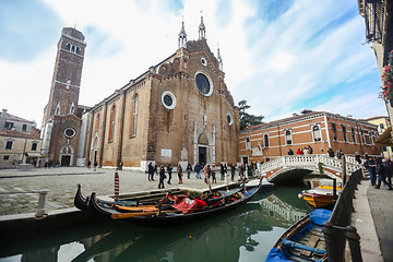
<path fill-rule="evenodd" d="M 175 227 L 84 225 L 1 249 L 0 261 L 264 261 L 278 237 L 310 212 L 297 198 L 301 190 L 276 187 L 239 209 Z"/>

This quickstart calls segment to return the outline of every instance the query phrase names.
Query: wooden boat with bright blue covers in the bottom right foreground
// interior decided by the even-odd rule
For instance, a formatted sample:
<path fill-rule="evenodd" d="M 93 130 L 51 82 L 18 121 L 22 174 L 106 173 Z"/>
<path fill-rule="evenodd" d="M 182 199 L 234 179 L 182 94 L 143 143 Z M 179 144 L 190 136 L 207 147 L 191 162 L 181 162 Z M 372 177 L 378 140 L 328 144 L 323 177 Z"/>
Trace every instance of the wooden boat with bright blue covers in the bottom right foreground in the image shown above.
<path fill-rule="evenodd" d="M 295 223 L 274 245 L 265 262 L 326 261 L 322 227 L 331 215 L 331 211 L 318 209 Z"/>

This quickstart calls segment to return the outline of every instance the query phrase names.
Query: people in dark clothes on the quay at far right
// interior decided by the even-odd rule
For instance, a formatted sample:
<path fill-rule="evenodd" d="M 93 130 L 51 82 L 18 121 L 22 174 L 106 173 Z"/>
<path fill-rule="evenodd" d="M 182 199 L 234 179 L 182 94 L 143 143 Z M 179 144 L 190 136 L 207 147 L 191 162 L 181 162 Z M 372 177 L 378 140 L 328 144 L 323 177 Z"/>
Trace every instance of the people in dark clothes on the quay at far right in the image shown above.
<path fill-rule="evenodd" d="M 364 166 L 370 174 L 372 187 L 380 189 L 383 182 L 389 190 L 392 190 L 393 162 L 390 158 L 378 157 L 374 159 L 372 156 L 368 156 Z"/>

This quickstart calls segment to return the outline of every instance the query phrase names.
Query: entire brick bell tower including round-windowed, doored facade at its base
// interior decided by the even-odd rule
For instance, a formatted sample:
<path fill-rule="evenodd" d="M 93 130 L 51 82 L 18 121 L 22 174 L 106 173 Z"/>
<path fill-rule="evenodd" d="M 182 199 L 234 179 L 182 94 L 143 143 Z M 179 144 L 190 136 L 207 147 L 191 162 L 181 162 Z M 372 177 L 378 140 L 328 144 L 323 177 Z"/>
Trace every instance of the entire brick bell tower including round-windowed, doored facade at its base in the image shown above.
<path fill-rule="evenodd" d="M 43 118 L 43 154 L 46 160 L 61 166 L 74 166 L 78 158 L 84 165 L 84 154 L 79 152 L 82 115 L 88 109 L 79 105 L 83 60 L 86 48 L 84 35 L 64 27 L 58 43 L 57 57 L 49 100 Z M 84 152 L 83 152 L 84 153 Z"/>

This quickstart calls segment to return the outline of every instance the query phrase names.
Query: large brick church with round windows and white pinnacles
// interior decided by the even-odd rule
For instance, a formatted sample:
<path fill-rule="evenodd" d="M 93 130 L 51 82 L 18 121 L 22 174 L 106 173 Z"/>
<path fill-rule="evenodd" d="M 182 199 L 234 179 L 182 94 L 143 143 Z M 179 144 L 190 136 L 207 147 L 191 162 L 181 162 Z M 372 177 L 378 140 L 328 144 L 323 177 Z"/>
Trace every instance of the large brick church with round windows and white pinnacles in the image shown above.
<path fill-rule="evenodd" d="M 174 55 L 91 109 L 86 160 L 141 169 L 238 162 L 239 109 L 203 17 L 198 40 L 187 40 L 182 24 L 178 41 Z"/>

